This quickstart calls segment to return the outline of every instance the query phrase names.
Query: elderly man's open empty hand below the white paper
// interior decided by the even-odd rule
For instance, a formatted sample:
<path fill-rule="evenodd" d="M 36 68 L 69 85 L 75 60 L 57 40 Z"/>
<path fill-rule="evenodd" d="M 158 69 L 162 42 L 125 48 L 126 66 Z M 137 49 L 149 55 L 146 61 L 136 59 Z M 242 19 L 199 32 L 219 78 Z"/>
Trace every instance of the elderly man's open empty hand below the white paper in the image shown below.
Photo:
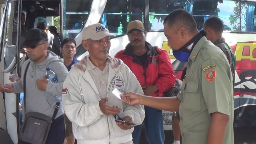
<path fill-rule="evenodd" d="M 102 98 L 99 101 L 100 110 L 103 112 L 103 114 L 106 114 L 107 116 L 110 115 L 110 114 L 115 115 L 115 114 L 118 114 L 121 111 L 121 109 L 118 108 L 117 106 L 116 107 L 108 106 L 107 102 L 108 102 L 108 97 Z"/>

